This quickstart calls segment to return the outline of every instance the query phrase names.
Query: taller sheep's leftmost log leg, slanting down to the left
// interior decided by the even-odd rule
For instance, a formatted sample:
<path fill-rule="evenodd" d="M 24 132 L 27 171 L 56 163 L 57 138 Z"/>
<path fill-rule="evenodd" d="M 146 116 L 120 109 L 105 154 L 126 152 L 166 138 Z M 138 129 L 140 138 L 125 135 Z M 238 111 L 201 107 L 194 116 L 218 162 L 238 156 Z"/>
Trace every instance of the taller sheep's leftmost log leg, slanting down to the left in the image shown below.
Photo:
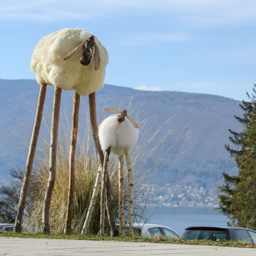
<path fill-rule="evenodd" d="M 22 190 L 20 191 L 14 232 L 22 232 L 22 219 L 24 214 L 24 208 L 26 205 L 26 197 L 28 193 L 29 180 L 30 180 L 33 160 L 35 156 L 36 143 L 37 143 L 41 120 L 42 120 L 42 111 L 44 110 L 46 87 L 47 87 L 47 84 L 41 84 L 38 103 L 37 103 L 37 109 L 36 109 L 35 123 L 34 123 L 33 133 L 32 133 L 30 146 L 29 146 L 29 153 L 28 153 L 28 158 L 26 163 L 24 179 L 22 183 Z"/>

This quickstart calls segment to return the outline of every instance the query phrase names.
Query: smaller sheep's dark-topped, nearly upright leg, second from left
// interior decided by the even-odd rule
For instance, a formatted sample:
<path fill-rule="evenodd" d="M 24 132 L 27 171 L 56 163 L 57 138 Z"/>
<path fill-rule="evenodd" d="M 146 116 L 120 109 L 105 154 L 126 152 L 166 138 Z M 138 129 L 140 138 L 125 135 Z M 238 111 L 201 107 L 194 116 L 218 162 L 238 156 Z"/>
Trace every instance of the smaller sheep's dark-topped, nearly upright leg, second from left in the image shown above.
<path fill-rule="evenodd" d="M 99 234 L 101 236 L 104 235 L 106 177 L 108 174 L 109 156 L 110 156 L 110 147 L 105 151 L 105 154 L 104 154 L 103 174 L 102 174 L 102 180 L 101 180 L 100 226 L 99 226 Z"/>

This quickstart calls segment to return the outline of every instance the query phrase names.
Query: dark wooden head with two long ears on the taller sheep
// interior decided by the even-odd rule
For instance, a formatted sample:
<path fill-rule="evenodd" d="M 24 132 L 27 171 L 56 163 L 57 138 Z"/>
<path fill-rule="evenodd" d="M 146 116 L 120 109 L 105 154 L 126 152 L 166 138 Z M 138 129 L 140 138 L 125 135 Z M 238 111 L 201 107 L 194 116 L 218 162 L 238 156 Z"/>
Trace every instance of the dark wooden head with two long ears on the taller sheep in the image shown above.
<path fill-rule="evenodd" d="M 98 70 L 100 67 L 100 58 L 99 58 L 99 48 L 94 41 L 95 36 L 90 35 L 88 38 L 82 42 L 74 51 L 72 51 L 64 60 L 70 59 L 72 56 L 74 56 L 82 47 L 84 47 L 84 51 L 82 53 L 82 56 L 80 58 L 80 63 L 83 66 L 88 66 L 91 62 L 93 52 L 94 52 L 94 65 L 95 70 Z"/>

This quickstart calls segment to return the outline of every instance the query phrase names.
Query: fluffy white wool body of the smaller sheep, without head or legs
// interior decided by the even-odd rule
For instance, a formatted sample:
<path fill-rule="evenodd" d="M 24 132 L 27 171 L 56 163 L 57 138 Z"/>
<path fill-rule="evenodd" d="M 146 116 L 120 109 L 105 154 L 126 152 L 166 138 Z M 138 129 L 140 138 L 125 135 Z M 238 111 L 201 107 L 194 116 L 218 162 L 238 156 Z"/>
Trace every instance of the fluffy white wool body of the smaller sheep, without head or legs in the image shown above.
<path fill-rule="evenodd" d="M 124 154 L 127 148 L 131 150 L 137 143 L 139 129 L 124 118 L 123 122 L 117 120 L 117 115 L 107 117 L 99 126 L 99 141 L 101 149 L 104 152 L 111 147 L 111 153 L 117 156 Z"/>

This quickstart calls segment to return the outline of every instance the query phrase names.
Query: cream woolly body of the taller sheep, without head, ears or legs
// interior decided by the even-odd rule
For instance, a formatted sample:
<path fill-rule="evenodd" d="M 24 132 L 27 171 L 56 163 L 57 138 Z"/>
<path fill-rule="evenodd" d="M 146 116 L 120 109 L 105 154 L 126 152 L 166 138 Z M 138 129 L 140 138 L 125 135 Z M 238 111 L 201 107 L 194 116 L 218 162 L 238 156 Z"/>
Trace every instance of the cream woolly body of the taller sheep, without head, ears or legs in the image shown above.
<path fill-rule="evenodd" d="M 81 96 L 99 90 L 104 83 L 105 67 L 109 56 L 97 37 L 95 42 L 100 56 L 98 70 L 94 67 L 94 53 L 88 66 L 81 65 L 80 57 L 84 51 L 83 47 L 70 59 L 64 60 L 89 35 L 93 33 L 80 28 L 66 28 L 43 37 L 35 47 L 30 63 L 31 71 L 36 73 L 37 82 L 64 90 L 76 90 Z"/>

